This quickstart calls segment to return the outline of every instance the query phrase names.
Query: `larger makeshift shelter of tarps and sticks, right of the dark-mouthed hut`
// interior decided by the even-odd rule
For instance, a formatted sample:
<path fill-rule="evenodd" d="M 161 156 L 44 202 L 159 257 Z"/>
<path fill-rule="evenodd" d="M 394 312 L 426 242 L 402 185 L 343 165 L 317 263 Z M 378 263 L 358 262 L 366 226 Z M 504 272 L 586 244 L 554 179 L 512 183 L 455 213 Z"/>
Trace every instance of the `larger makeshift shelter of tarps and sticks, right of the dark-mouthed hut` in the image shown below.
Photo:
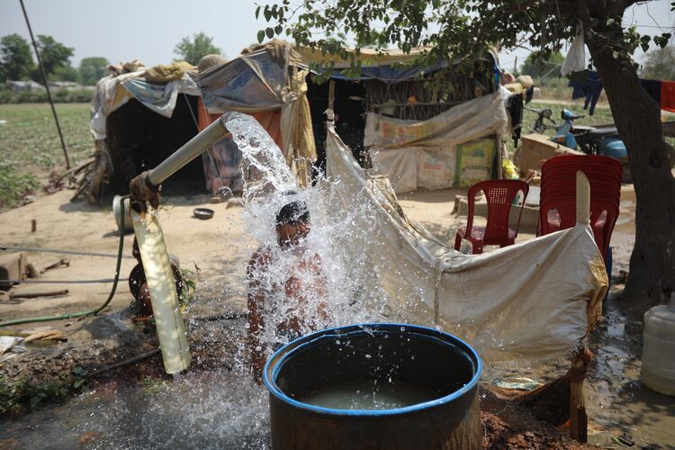
<path fill-rule="evenodd" d="M 494 58 L 488 53 L 474 61 L 470 73 L 449 72 L 445 81 L 452 88 L 439 92 L 429 89 L 428 82 L 449 63 L 410 65 L 422 50 L 380 55 L 362 49 L 362 72 L 357 77 L 344 75 L 348 60 L 333 57 L 330 84 L 318 85 L 311 81 L 315 74 L 309 68 L 328 61 L 329 55 L 272 40 L 196 76 L 206 112 L 200 115 L 200 128 L 223 112 L 253 114 L 283 149 L 301 184 L 306 184 L 311 163 L 325 166 L 324 112 L 332 103 L 340 137 L 361 165 L 372 162 L 379 173 L 389 176 L 397 192 L 491 178 L 500 167 L 495 161 L 507 123 L 496 94 Z M 403 134 L 407 138 L 399 139 Z M 229 175 L 237 169 L 239 159 L 232 156 L 236 152 L 231 139 L 209 151 L 211 190 L 232 187 Z"/>

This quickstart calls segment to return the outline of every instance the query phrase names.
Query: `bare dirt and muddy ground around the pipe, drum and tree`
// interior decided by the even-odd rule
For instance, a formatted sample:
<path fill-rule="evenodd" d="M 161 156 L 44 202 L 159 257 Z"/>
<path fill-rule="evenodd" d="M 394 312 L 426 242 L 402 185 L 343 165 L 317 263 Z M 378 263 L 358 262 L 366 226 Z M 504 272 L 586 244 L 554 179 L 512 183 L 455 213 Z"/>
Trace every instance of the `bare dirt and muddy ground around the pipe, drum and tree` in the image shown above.
<path fill-rule="evenodd" d="M 401 205 L 413 220 L 419 221 L 437 238 L 450 241 L 455 229 L 464 223 L 453 213 L 455 194 L 460 189 L 410 193 L 401 195 Z M 40 197 L 36 202 L 0 214 L 3 237 L 0 245 L 23 247 L 56 247 L 114 253 L 118 234 L 111 208 L 68 202 L 70 192 L 63 191 Z M 228 203 L 209 203 L 202 194 L 172 196 L 160 216 L 166 237 L 166 246 L 180 258 L 181 267 L 193 271 L 197 281 L 195 300 L 186 314 L 189 339 L 193 351 L 191 371 L 209 372 L 229 370 L 234 365 L 236 349 L 244 334 L 246 289 L 242 284 L 247 257 L 255 242 L 247 238 L 238 206 Z M 205 206 L 215 211 L 212 220 L 193 218 L 193 208 Z M 606 320 L 599 324 L 590 337 L 590 349 L 595 358 L 586 383 L 587 410 L 590 417 L 590 443 L 621 447 L 634 443 L 638 447 L 675 448 L 675 399 L 646 389 L 640 382 L 639 356 L 642 346 L 644 306 L 619 299 L 622 290 L 621 271 L 628 270 L 628 257 L 635 229 L 635 193 L 632 186 L 622 189 L 621 215 L 617 222 L 612 247 L 614 269 L 612 292 L 605 306 Z M 31 220 L 37 220 L 37 230 L 31 232 Z M 521 229 L 520 239 L 531 238 L 534 229 Z M 130 255 L 131 236 L 124 238 L 125 254 Z M 29 253 L 29 261 L 38 269 L 48 266 L 61 256 L 48 253 Z M 40 280 L 85 280 L 110 278 L 114 259 L 109 257 L 68 256 L 70 266 L 54 269 L 40 276 Z M 135 265 L 133 259 L 124 259 L 121 276 L 126 277 Z M 21 284 L 14 293 L 34 293 L 51 290 L 49 284 Z M 67 284 L 69 293 L 58 298 L 38 298 L 22 302 L 0 300 L 0 318 L 14 320 L 22 317 L 49 316 L 68 311 L 81 311 L 100 305 L 110 292 L 110 284 Z M 61 288 L 61 285 L 58 285 Z M 226 299 L 223 302 L 223 299 Z M 149 379 L 166 379 L 157 353 L 120 368 L 111 366 L 147 355 L 157 348 L 151 330 L 134 325 L 129 305 L 131 295 L 126 282 L 103 314 L 82 320 L 58 320 L 26 324 L 8 329 L 21 332 L 59 330 L 67 342 L 49 347 L 31 347 L 24 354 L 0 365 L 0 380 L 12 383 L 31 378 L 31 383 L 44 386 L 54 380 L 68 387 L 61 402 L 80 390 L 114 391 L 120 383 L 145 383 Z M 6 329 L 4 329 L 6 330 Z M 565 373 L 566 361 L 513 371 L 519 376 L 546 382 Z M 80 370 L 82 369 L 82 370 Z M 84 372 L 83 372 L 84 371 Z M 501 370 L 488 371 L 485 382 L 508 375 Z M 80 379 L 82 386 L 74 387 Z M 39 392 L 40 393 L 40 392 Z M 0 392 L 0 395 L 2 392 Z M 33 392 L 34 394 L 34 392 Z M 54 396 L 58 397 L 58 395 Z M 24 399 L 30 402 L 30 399 Z M 23 448 L 22 424 L 31 423 L 31 417 L 53 407 L 49 399 L 40 401 L 37 411 L 23 404 L 14 411 L 20 416 L 4 416 L 7 431 L 0 431 L 4 444 Z M 67 403 L 66 403 L 67 404 Z M 569 442 L 545 424 L 512 420 L 506 410 L 482 415 L 486 432 L 485 444 L 493 448 L 559 447 Z M 508 412 L 508 411 L 507 411 Z M 38 416 L 35 416 L 36 418 Z M 509 419 L 509 417 L 511 419 Z M 509 421 L 510 420 L 510 421 Z M 528 429 L 529 428 L 529 429 Z M 82 437 L 87 441 L 87 437 Z M 101 439 L 88 437 L 93 442 Z M 82 443 L 81 443 L 82 444 Z M 86 446 L 87 442 L 82 444 Z M 0 445 L 3 446 L 3 445 Z M 4 447 L 4 446 L 3 446 Z"/>

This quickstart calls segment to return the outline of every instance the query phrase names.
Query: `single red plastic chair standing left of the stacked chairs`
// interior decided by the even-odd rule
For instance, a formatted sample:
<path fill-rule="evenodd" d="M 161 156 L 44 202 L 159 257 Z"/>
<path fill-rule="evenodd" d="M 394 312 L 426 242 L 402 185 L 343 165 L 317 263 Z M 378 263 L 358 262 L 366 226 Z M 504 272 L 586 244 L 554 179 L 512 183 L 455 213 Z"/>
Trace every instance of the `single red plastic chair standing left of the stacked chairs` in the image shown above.
<path fill-rule="evenodd" d="M 488 223 L 485 227 L 473 225 L 473 210 L 476 193 L 482 191 L 488 202 Z M 460 227 L 455 234 L 455 250 L 462 246 L 462 239 L 471 241 L 473 254 L 482 253 L 483 246 L 507 247 L 515 243 L 520 227 L 520 216 L 523 214 L 523 206 L 518 215 L 518 227 L 509 228 L 509 212 L 511 205 L 518 192 L 523 193 L 523 199 L 527 197 L 529 185 L 518 180 L 489 180 L 473 184 L 469 189 L 468 202 L 469 213 L 466 227 Z M 525 204 L 525 202 L 523 202 Z"/>

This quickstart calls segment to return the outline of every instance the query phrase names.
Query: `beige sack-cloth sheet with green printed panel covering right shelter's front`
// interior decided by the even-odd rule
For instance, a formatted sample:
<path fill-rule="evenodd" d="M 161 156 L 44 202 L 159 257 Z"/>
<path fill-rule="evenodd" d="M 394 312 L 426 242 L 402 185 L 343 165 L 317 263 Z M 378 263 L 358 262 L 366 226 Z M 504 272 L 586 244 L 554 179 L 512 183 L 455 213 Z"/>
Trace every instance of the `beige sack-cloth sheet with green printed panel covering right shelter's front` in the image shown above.
<path fill-rule="evenodd" d="M 364 145 L 370 148 L 374 169 L 387 175 L 395 192 L 441 189 L 489 179 L 494 141 L 507 123 L 498 92 L 459 104 L 428 121 L 402 121 L 369 112 Z M 493 138 L 484 139 L 489 136 Z M 465 148 L 458 150 L 469 142 L 480 157 L 467 158 Z"/>

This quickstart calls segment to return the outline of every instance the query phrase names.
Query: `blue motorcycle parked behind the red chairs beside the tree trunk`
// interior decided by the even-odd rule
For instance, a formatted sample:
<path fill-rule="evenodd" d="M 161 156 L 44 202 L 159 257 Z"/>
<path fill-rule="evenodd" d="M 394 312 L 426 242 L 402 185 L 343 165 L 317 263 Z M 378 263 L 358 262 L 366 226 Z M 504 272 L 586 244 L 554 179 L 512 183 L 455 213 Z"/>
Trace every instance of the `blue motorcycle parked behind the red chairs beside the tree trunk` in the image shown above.
<path fill-rule="evenodd" d="M 628 151 L 626 150 L 626 144 L 624 144 L 624 141 L 618 135 L 617 127 L 614 125 L 600 125 L 597 127 L 575 125 L 575 120 L 585 116 L 575 115 L 570 110 L 563 110 L 561 113 L 563 124 L 558 127 L 558 124 L 551 119 L 553 112 L 550 109 L 535 110 L 527 107 L 526 109 L 537 114 L 532 131 L 544 133 L 545 130 L 555 129 L 554 137 L 551 138 L 553 142 L 573 149 L 579 147 L 587 155 L 602 155 L 617 159 L 621 163 L 623 181 L 630 183 L 631 174 L 628 164 Z M 554 126 L 546 124 L 545 120 L 552 122 Z"/>

